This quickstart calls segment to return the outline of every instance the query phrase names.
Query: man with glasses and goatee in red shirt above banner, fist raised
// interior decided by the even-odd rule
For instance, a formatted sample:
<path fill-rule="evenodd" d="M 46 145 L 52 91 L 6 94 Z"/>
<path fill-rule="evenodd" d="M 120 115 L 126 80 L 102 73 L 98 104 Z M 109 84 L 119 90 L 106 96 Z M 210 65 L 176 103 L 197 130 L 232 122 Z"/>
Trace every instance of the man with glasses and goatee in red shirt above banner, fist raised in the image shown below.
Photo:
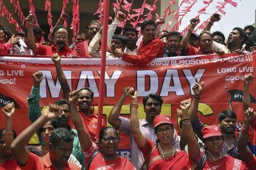
<path fill-rule="evenodd" d="M 34 33 L 33 33 L 33 24 L 35 23 L 35 18 L 33 14 L 29 14 L 26 18 L 28 24 L 28 47 L 34 49 L 34 54 L 36 55 L 53 55 L 58 53 L 59 55 L 64 55 L 67 57 L 77 56 L 77 53 L 72 49 L 69 49 L 69 32 L 67 28 L 63 25 L 58 25 L 53 29 L 52 38 L 53 45 L 46 46 L 39 43 L 35 43 Z"/>

